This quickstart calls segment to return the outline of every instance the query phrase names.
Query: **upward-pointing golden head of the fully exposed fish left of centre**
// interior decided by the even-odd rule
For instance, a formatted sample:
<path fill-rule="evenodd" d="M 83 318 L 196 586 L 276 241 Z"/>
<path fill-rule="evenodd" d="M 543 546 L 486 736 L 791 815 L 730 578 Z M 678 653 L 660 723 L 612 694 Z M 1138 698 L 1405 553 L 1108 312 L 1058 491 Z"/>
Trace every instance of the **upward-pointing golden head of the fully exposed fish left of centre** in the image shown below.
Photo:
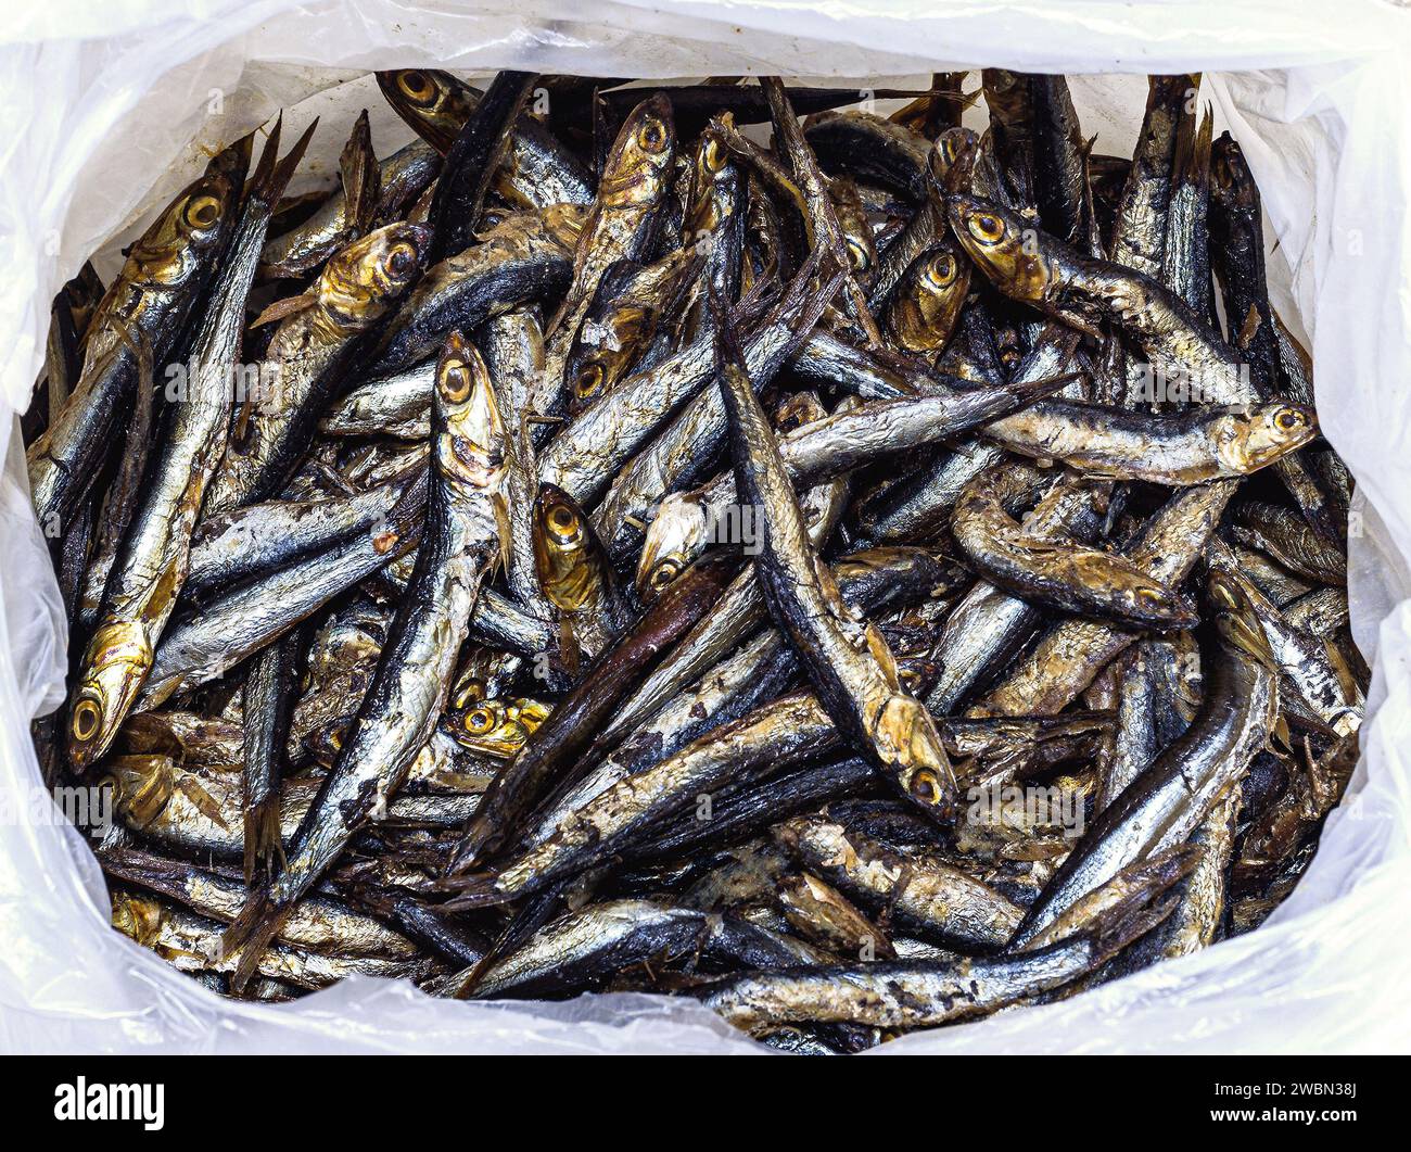
<path fill-rule="evenodd" d="M 457 487 L 498 491 L 505 472 L 505 426 L 490 370 L 459 332 L 442 344 L 432 408 L 437 472 Z"/>

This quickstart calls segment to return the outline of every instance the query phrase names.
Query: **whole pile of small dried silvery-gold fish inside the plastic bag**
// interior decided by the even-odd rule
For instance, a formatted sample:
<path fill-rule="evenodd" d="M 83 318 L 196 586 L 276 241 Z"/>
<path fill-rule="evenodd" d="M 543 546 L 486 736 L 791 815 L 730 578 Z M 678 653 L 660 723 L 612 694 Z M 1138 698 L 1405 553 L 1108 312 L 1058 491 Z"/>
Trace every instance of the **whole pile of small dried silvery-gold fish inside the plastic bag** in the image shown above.
<path fill-rule="evenodd" d="M 1249 932 L 1356 761 L 1352 480 L 1198 76 L 380 73 L 216 155 L 25 416 L 113 923 L 212 988 L 790 1050 Z M 964 127 L 962 114 L 982 127 Z"/>

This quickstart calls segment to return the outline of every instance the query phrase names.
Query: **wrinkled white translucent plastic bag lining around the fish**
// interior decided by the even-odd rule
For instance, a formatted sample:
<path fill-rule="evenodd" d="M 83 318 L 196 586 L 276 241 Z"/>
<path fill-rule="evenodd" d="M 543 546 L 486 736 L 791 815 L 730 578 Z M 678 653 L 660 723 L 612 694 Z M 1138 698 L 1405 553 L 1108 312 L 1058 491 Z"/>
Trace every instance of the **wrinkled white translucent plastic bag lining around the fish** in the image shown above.
<path fill-rule="evenodd" d="M 59 285 L 96 248 L 110 275 L 117 248 L 195 175 L 203 148 L 299 102 L 291 127 L 323 116 L 305 181 L 332 178 L 364 104 L 380 151 L 404 143 L 406 130 L 365 76 L 375 66 L 869 78 L 862 83 L 982 65 L 1070 75 L 1204 69 L 1216 131 L 1230 127 L 1243 145 L 1278 237 L 1276 306 L 1311 336 L 1322 424 L 1359 484 L 1353 621 L 1376 656 L 1363 761 L 1307 878 L 1257 932 L 1068 1001 L 880 1050 L 1405 1049 L 1411 13 L 1374 0 L 1307 8 L 1278 0 L 429 7 L 48 0 L 10 11 L 0 30 L 0 404 L 10 414 L 25 407 Z M 1129 150 L 1143 82 L 1084 78 L 1074 95 L 1086 131 L 1099 133 L 1098 150 Z M 0 1048 L 761 1050 L 697 1005 L 646 995 L 476 1005 L 356 978 L 292 1005 L 233 1004 L 111 932 L 103 880 L 79 834 L 25 803 L 40 786 L 28 721 L 59 699 L 63 645 L 17 436 L 4 456 L 0 795 L 21 803 L 0 829 Z"/>

